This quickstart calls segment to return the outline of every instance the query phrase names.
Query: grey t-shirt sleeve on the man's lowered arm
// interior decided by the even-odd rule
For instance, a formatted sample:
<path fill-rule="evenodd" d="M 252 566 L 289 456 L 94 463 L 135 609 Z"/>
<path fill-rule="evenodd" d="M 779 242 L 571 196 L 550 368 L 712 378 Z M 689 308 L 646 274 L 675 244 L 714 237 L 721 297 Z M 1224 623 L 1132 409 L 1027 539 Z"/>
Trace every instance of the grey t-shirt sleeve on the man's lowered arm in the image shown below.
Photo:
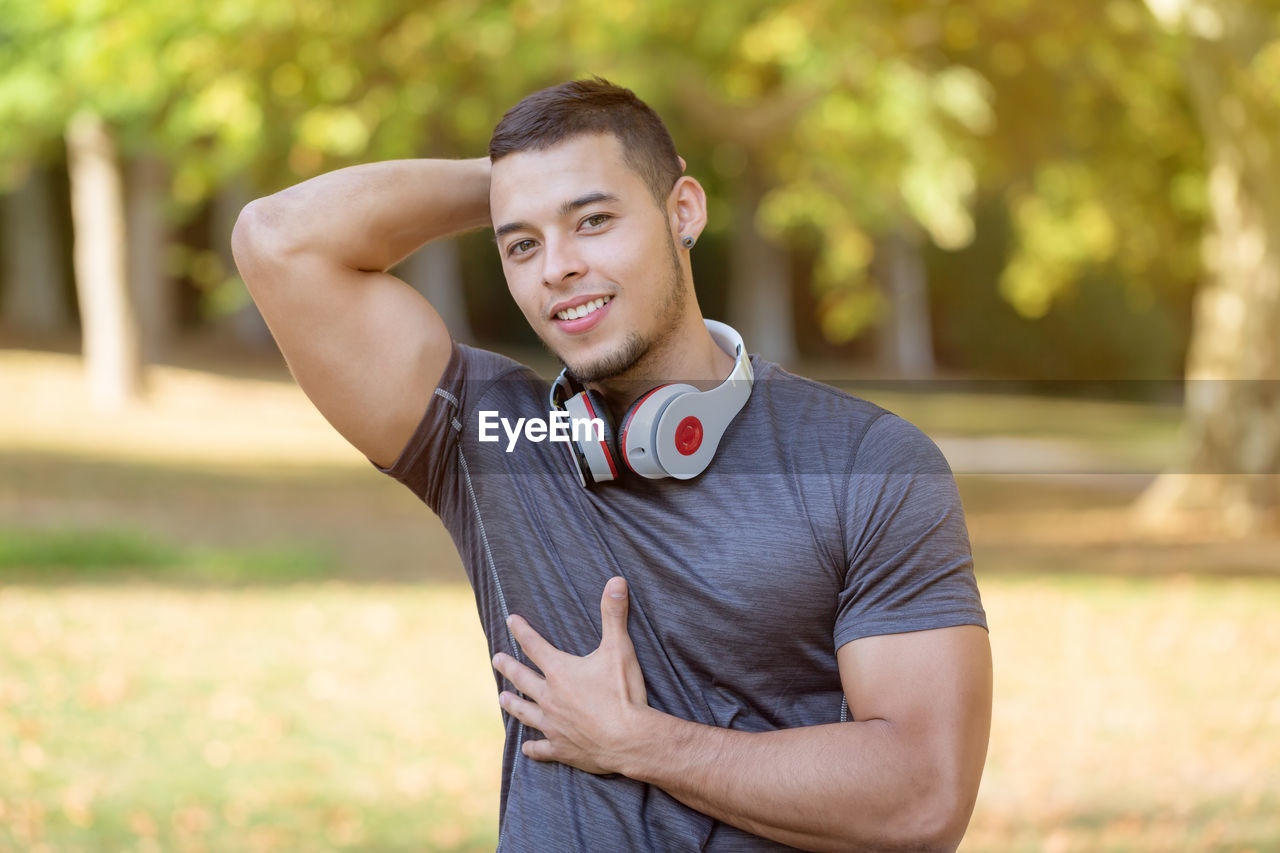
<path fill-rule="evenodd" d="M 878 634 L 986 628 L 964 510 L 942 452 L 888 412 L 854 452 L 836 648 Z"/>

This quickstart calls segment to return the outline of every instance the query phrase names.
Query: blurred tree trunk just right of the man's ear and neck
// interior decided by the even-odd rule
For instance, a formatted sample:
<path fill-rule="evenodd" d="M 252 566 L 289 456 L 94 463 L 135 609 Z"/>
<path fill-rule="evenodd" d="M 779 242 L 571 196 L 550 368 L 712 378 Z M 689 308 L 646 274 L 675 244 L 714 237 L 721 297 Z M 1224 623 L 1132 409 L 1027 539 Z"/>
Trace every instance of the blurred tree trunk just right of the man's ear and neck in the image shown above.
<path fill-rule="evenodd" d="M 797 347 L 790 255 L 756 228 L 755 213 L 764 187 L 749 175 L 741 181 L 742 195 L 733 205 L 728 323 L 742 336 L 749 351 L 769 361 L 794 364 Z"/>

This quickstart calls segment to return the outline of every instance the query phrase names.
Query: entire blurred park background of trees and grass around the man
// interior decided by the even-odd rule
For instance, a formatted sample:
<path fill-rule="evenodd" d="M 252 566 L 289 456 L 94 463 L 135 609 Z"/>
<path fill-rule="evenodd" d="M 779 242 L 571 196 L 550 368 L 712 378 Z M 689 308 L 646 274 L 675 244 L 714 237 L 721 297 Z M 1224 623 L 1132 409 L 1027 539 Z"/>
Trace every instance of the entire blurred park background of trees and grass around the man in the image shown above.
<path fill-rule="evenodd" d="M 493 849 L 448 535 L 228 243 L 584 74 L 708 187 L 708 316 L 957 473 L 996 656 L 963 849 L 1280 849 L 1275 3 L 0 0 L 0 850 Z M 398 273 L 552 369 L 488 234 Z"/>

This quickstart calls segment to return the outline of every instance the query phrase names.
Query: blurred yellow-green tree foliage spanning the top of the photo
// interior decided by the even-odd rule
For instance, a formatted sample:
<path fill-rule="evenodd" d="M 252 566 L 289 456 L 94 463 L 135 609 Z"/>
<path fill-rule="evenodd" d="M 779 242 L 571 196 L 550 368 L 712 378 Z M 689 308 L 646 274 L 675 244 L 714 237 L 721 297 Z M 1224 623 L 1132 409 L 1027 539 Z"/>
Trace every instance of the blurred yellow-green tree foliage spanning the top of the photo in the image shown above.
<path fill-rule="evenodd" d="M 127 156 L 168 161 L 172 199 L 189 211 L 232 181 L 262 192 L 366 159 L 474 155 L 522 93 L 599 73 L 668 118 L 709 188 L 713 236 L 762 200 L 762 233 L 815 256 L 828 339 L 881 311 L 869 274 L 881 237 L 919 231 L 961 248 L 983 238 L 979 195 L 1002 197 L 1015 225 L 991 287 L 1039 318 L 1103 268 L 1143 300 L 1199 278 L 1204 155 L 1185 35 L 1169 24 L 1183 4 L 1152 5 L 1175 12 L 0 0 L 0 179 L 91 108 Z M 1260 32 L 1240 73 L 1280 97 L 1280 41 Z"/>

